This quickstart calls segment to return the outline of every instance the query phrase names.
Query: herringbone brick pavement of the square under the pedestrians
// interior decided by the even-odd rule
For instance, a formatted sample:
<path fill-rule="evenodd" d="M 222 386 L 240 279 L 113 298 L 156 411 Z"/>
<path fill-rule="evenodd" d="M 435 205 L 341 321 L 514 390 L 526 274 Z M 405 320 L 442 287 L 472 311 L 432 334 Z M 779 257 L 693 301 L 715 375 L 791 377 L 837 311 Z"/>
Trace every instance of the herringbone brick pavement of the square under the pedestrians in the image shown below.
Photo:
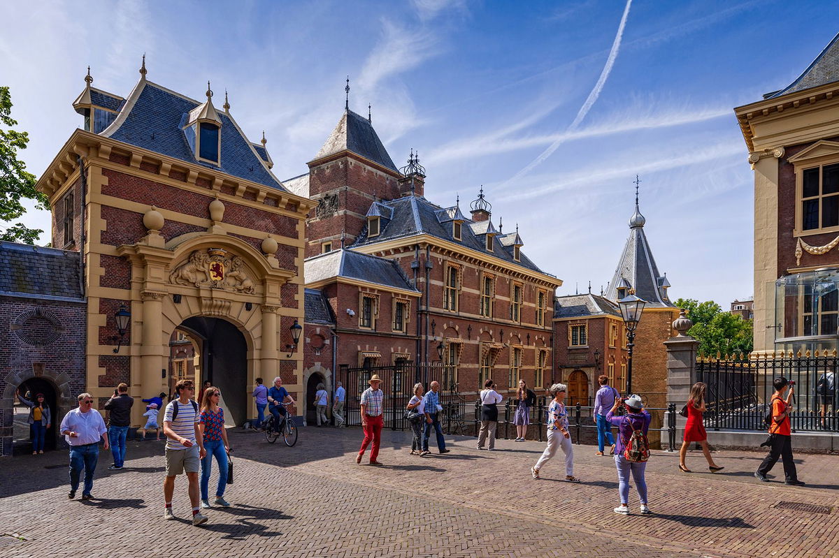
<path fill-rule="evenodd" d="M 574 448 L 582 482 L 572 484 L 561 480 L 561 455 L 541 480 L 530 477 L 539 442 L 501 440 L 479 452 L 474 438 L 450 437 L 451 453 L 420 458 L 408 454 L 407 433 L 384 431 L 385 467 L 374 468 L 355 463 L 361 437 L 358 429 L 303 428 L 289 448 L 231 431 L 235 483 L 225 497 L 233 507 L 209 510 L 200 528 L 186 521 L 185 478 L 175 488 L 180 519 L 162 519 L 163 442 L 129 442 L 120 472 L 107 471 L 110 452 L 100 452 L 89 502 L 67 499 L 66 452 L 3 457 L 0 535 L 27 540 L 0 537 L 0 556 L 839 556 L 835 456 L 796 456 L 808 482 L 797 488 L 753 478 L 763 453 L 717 452 L 725 470 L 711 474 L 700 473 L 705 460 L 691 452 L 695 473 L 687 474 L 676 453 L 654 452 L 654 515 L 637 514 L 630 493 L 634 513 L 623 516 L 612 513 L 612 458 L 591 446 Z M 774 473 L 783 475 L 780 463 Z"/>

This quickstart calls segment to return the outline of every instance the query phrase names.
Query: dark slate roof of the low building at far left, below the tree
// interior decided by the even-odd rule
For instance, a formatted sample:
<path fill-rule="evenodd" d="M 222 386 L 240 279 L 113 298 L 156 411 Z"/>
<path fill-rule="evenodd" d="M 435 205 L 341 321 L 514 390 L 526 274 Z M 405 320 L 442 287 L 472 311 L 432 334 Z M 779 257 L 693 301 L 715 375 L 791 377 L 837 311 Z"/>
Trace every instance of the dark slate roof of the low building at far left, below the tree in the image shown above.
<path fill-rule="evenodd" d="M 0 296 L 83 300 L 78 252 L 0 241 Z"/>

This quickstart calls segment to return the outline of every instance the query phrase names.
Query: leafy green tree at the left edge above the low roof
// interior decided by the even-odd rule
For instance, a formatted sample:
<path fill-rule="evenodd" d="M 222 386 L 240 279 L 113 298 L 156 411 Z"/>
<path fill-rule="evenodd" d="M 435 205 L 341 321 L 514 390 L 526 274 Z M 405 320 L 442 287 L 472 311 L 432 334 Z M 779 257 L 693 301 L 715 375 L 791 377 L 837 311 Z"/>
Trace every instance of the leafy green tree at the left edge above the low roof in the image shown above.
<path fill-rule="evenodd" d="M 18 149 L 26 149 L 29 143 L 27 132 L 11 129 L 18 125 L 12 114 L 12 96 L 8 87 L 0 87 L 0 221 L 18 219 L 26 213 L 22 199 L 34 199 L 38 209 L 50 209 L 47 198 L 35 189 L 34 174 L 26 171 L 26 164 L 18 159 Z M 43 233 L 40 229 L 29 229 L 23 223 L 0 227 L 0 240 L 34 244 Z"/>

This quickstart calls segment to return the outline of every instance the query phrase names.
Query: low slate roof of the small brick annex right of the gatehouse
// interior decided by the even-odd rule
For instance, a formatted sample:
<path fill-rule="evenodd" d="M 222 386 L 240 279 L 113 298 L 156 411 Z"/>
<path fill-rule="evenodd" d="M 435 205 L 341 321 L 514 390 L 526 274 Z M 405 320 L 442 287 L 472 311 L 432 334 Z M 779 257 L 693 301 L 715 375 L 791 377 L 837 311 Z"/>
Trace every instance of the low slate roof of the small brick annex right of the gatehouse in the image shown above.
<path fill-rule="evenodd" d="M 370 256 L 341 248 L 312 256 L 303 261 L 303 276 L 307 283 L 320 282 L 335 277 L 347 277 L 383 287 L 419 292 L 396 261 Z"/>

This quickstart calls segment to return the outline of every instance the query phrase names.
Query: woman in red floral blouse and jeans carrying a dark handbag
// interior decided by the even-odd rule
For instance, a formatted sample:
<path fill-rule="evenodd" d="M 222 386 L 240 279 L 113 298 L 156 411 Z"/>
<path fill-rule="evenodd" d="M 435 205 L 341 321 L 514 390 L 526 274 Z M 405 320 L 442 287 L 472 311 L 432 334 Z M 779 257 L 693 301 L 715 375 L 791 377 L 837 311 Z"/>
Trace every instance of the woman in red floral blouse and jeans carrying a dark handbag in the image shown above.
<path fill-rule="evenodd" d="M 227 453 L 231 451 L 227 442 L 227 431 L 224 428 L 224 409 L 218 406 L 221 390 L 210 386 L 204 390 L 201 401 L 201 419 L 198 428 L 204 437 L 206 456 L 201 459 L 201 508 L 210 507 L 207 495 L 212 470 L 212 459 L 216 457 L 218 463 L 218 487 L 216 488 L 216 505 L 222 508 L 230 507 L 224 499 L 224 489 L 227 488 Z"/>

